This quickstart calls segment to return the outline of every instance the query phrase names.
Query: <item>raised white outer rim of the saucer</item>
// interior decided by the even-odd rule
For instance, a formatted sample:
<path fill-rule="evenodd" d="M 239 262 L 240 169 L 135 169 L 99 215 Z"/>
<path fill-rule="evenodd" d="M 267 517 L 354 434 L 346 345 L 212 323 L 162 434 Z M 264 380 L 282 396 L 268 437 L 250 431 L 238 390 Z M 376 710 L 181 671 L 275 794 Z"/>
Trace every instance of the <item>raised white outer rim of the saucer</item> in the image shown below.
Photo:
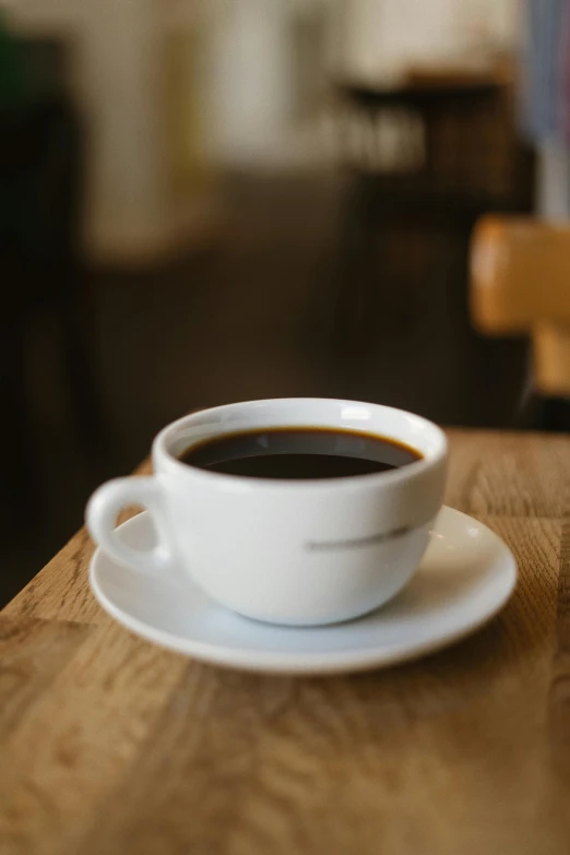
<path fill-rule="evenodd" d="M 343 674 L 343 673 L 356 673 L 372 670 L 376 668 L 389 667 L 392 665 L 403 664 L 412 660 L 421 658 L 431 653 L 436 653 L 448 645 L 454 644 L 458 641 L 466 638 L 467 636 L 476 632 L 487 622 L 489 622 L 506 605 L 511 594 L 514 591 L 518 580 L 518 565 L 516 559 L 504 543 L 504 541 L 489 529 L 485 523 L 476 520 L 470 514 L 458 511 L 449 506 L 442 506 L 441 511 L 451 513 L 452 515 L 461 515 L 466 520 L 475 522 L 478 526 L 486 530 L 492 538 L 496 541 L 497 546 L 503 551 L 503 559 L 507 560 L 508 566 L 502 570 L 503 574 L 508 574 L 509 578 L 502 580 L 503 590 L 500 592 L 492 604 L 485 610 L 483 610 L 475 619 L 468 620 L 463 626 L 458 627 L 456 630 L 444 630 L 439 634 L 435 634 L 423 642 L 414 642 L 411 640 L 406 645 L 400 650 L 385 650 L 382 648 L 371 648 L 367 650 L 361 648 L 360 650 L 351 651 L 331 651 L 324 653 L 302 653 L 302 652 L 276 652 L 276 651 L 263 651 L 263 650 L 248 650 L 236 646 L 228 646 L 227 644 L 215 644 L 206 641 L 198 641 L 190 639 L 187 636 L 178 636 L 171 632 L 167 632 L 163 629 L 157 629 L 151 624 L 141 620 L 138 617 L 126 613 L 122 608 L 115 605 L 102 590 L 102 586 L 97 579 L 97 562 L 99 556 L 104 556 L 104 551 L 100 548 L 95 549 L 92 559 L 90 561 L 88 581 L 92 593 L 102 608 L 107 611 L 117 622 L 121 624 L 128 630 L 133 632 L 139 638 L 157 644 L 164 650 L 169 650 L 175 653 L 192 657 L 197 661 L 205 662 L 211 665 L 228 669 L 239 669 L 250 673 L 262 674 L 281 674 L 283 676 L 299 676 L 299 675 L 325 675 L 325 674 Z M 440 513 L 441 513 L 440 511 Z M 136 516 L 131 518 L 127 522 L 122 523 L 119 529 L 128 526 L 140 525 L 140 519 L 150 519 L 147 511 L 143 511 Z M 436 523 L 437 526 L 437 523 Z M 107 556 L 105 556 L 107 557 Z M 109 559 L 112 560 L 112 559 Z M 222 606 L 221 606 L 222 608 Z M 360 618 L 347 621 L 354 625 L 358 620 L 368 617 L 370 613 L 363 615 Z M 242 617 L 244 620 L 249 618 Z M 256 621 L 251 621 L 256 622 Z M 270 627 L 271 625 L 264 625 Z M 318 632 L 320 629 L 331 629 L 331 626 L 310 628 L 312 631 Z M 342 627 L 344 625 L 339 625 Z M 284 629 L 280 627 L 280 629 Z M 308 627 L 286 627 L 287 631 L 307 631 Z"/>

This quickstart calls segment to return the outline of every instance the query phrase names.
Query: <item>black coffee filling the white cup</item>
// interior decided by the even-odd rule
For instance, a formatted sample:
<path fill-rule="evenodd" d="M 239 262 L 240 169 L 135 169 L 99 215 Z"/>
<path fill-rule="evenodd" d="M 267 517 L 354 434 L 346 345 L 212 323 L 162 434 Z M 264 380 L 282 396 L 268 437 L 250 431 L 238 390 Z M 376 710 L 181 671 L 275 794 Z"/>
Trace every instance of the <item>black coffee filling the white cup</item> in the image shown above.
<path fill-rule="evenodd" d="M 201 470 L 248 478 L 346 478 L 421 460 L 402 442 L 357 430 L 285 427 L 248 430 L 191 446 L 180 460 Z"/>

